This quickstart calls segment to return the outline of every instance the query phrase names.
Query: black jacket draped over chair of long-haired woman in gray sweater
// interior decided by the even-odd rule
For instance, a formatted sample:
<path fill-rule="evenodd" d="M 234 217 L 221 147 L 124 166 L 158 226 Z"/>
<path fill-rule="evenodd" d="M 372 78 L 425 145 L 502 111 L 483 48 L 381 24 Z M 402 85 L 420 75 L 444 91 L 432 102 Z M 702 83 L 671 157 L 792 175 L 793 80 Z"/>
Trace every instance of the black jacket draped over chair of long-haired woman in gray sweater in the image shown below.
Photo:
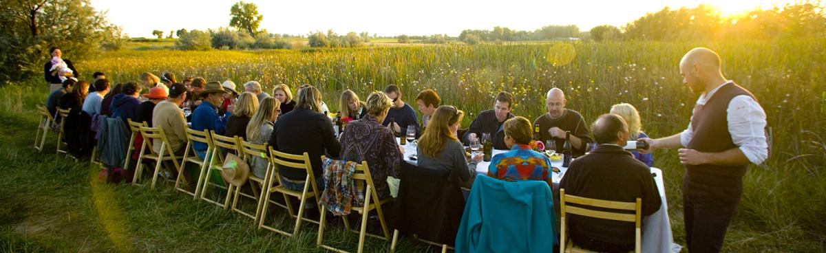
<path fill-rule="evenodd" d="M 392 210 L 392 226 L 399 232 L 452 246 L 465 204 L 457 178 L 450 171 L 401 162 L 401 183 Z"/>

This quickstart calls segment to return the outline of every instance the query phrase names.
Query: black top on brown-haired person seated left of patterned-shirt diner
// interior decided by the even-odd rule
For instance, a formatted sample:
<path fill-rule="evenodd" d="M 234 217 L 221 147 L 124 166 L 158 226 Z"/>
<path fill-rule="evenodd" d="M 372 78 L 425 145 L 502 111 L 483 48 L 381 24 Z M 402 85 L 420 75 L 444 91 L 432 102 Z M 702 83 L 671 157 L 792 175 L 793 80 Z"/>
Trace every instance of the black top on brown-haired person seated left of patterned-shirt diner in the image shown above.
<path fill-rule="evenodd" d="M 307 152 L 316 178 L 321 176 L 321 155 L 326 151 L 329 157 L 339 157 L 341 150 L 341 143 L 335 138 L 330 118 L 303 108 L 296 108 L 278 117 L 268 144 L 277 151 L 289 154 L 301 155 Z M 306 171 L 300 169 L 284 167 L 278 173 L 291 180 L 306 179 Z"/>

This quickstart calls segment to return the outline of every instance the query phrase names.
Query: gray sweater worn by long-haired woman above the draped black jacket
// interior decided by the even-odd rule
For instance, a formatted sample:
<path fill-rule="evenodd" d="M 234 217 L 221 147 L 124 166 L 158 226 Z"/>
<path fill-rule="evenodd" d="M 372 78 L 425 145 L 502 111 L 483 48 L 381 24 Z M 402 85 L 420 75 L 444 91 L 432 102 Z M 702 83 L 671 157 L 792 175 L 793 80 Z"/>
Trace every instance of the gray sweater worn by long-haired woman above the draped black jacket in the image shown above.
<path fill-rule="evenodd" d="M 465 159 L 465 150 L 462 143 L 449 140 L 444 143 L 438 157 L 427 157 L 421 146 L 416 150 L 419 153 L 419 167 L 431 170 L 453 171 L 464 182 L 469 182 L 476 176 L 476 162 L 468 163 Z"/>

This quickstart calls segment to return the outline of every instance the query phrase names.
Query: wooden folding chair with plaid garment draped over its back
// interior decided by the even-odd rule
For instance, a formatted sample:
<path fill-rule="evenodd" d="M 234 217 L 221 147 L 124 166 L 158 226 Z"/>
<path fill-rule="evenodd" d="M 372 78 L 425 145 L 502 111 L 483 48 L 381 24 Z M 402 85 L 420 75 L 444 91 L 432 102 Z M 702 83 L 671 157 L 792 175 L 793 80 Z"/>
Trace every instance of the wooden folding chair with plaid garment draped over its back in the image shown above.
<path fill-rule="evenodd" d="M 321 156 L 321 162 L 325 162 L 327 157 Z M 364 190 L 364 194 L 368 194 L 364 196 L 364 204 L 363 206 L 353 206 L 350 208 L 351 211 L 358 212 L 361 214 L 361 228 L 359 231 L 351 230 L 350 224 L 347 221 L 346 216 L 342 216 L 341 218 L 344 220 L 344 229 L 357 232 L 358 233 L 358 253 L 361 253 L 364 249 L 364 237 L 376 237 L 385 241 L 390 240 L 390 232 L 387 230 L 387 223 L 384 221 L 384 213 L 382 212 L 382 205 L 387 204 L 392 198 L 387 199 L 378 199 L 378 192 L 376 191 L 376 185 L 373 184 L 373 177 L 370 176 L 370 169 L 368 168 L 367 162 L 362 162 L 361 164 L 356 165 L 356 169 L 353 173 L 353 182 L 354 187 L 358 187 L 358 189 L 366 189 Z M 326 186 L 326 185 L 325 185 Z M 371 200 L 372 203 L 371 203 Z M 328 246 L 322 244 L 322 240 L 324 237 L 324 227 L 327 223 L 326 221 L 326 208 L 320 207 L 322 210 L 321 212 L 321 223 L 318 226 L 318 238 L 316 239 L 316 246 L 320 246 L 326 250 L 336 251 L 336 252 L 347 252 L 341 249 L 337 249 L 333 246 Z M 376 210 L 378 214 L 378 222 L 382 224 L 382 232 L 384 232 L 384 237 L 373 235 L 367 232 L 367 220 L 368 220 L 368 213 L 370 211 Z"/>

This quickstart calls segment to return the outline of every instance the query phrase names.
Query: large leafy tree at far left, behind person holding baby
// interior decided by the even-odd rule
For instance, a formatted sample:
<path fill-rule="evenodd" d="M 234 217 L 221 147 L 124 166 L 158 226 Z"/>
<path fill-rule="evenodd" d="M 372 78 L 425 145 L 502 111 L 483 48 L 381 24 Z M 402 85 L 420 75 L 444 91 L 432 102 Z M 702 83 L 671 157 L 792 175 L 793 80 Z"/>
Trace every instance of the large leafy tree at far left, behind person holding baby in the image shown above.
<path fill-rule="evenodd" d="M 58 46 L 75 62 L 100 49 L 117 48 L 120 29 L 89 0 L 4 0 L 0 2 L 0 82 L 42 71 L 49 47 Z M 76 64 L 77 65 L 77 64 Z"/>

